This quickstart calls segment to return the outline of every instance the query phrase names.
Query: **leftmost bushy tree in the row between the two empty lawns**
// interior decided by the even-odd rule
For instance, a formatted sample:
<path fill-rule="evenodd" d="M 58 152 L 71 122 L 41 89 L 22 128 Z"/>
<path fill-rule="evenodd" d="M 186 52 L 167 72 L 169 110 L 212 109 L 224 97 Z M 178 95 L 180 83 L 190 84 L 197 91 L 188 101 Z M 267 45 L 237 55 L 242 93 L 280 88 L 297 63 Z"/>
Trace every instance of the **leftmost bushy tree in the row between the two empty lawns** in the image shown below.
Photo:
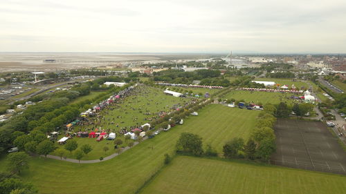
<path fill-rule="evenodd" d="M 176 142 L 176 151 L 202 155 L 202 138 L 193 133 L 181 133 L 178 142 Z"/>

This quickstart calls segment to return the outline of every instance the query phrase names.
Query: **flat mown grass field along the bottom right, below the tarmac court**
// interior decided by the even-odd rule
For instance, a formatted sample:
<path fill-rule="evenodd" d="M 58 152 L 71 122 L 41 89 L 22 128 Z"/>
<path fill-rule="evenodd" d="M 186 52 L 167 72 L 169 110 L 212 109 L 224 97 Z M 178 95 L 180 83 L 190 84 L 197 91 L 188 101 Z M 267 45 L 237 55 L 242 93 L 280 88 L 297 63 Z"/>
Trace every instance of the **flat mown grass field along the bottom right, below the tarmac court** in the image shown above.
<path fill-rule="evenodd" d="M 346 191 L 346 177 L 242 162 L 178 156 L 141 193 L 304 193 Z"/>

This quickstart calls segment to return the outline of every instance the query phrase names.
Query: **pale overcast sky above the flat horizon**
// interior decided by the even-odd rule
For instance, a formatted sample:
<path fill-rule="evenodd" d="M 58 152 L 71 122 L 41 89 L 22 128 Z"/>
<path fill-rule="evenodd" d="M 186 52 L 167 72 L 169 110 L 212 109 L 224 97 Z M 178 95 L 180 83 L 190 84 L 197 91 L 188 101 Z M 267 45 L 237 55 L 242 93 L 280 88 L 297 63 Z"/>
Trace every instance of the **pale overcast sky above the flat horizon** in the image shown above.
<path fill-rule="evenodd" d="M 345 0 L 1 0 L 0 52 L 346 52 Z"/>

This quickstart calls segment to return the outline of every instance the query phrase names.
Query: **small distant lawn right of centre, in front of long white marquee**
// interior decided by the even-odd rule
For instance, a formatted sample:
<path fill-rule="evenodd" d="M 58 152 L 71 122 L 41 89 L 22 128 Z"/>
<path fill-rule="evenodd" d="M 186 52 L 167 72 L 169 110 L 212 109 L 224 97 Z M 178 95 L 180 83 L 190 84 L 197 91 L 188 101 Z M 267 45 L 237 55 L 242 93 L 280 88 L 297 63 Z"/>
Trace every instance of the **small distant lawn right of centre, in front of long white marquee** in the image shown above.
<path fill-rule="evenodd" d="M 262 104 L 279 104 L 281 101 L 285 101 L 287 104 L 293 103 L 293 99 L 290 99 L 293 94 L 291 93 L 267 93 L 267 92 L 251 92 L 251 91 L 243 91 L 243 90 L 233 90 L 227 95 L 224 96 L 224 99 L 236 99 L 236 100 L 244 100 L 245 102 L 253 102 L 258 104 L 261 102 Z M 288 97 L 289 99 L 286 99 Z"/>

